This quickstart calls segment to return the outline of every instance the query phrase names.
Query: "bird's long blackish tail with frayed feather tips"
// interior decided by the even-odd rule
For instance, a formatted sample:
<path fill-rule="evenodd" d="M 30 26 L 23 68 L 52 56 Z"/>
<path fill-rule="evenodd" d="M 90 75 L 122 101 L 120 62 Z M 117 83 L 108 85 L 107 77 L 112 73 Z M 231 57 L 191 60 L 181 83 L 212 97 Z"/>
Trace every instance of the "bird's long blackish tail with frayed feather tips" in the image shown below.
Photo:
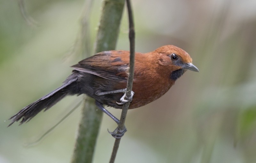
<path fill-rule="evenodd" d="M 10 118 L 12 122 L 9 124 L 9 126 L 11 126 L 12 123 L 14 123 L 15 121 L 19 121 L 20 119 L 22 119 L 20 121 L 20 125 L 21 125 L 22 123 L 31 120 L 34 116 L 36 116 L 36 114 L 38 114 L 44 108 L 45 110 L 51 108 L 53 105 L 59 102 L 63 97 L 67 95 L 79 94 L 79 89 L 77 87 L 76 82 L 77 82 L 77 75 L 76 73 L 73 73 L 67 78 L 67 80 L 63 83 L 63 85 L 60 88 L 55 89 L 48 95 L 36 100 L 32 104 L 24 107 L 18 113 L 13 115 Z"/>

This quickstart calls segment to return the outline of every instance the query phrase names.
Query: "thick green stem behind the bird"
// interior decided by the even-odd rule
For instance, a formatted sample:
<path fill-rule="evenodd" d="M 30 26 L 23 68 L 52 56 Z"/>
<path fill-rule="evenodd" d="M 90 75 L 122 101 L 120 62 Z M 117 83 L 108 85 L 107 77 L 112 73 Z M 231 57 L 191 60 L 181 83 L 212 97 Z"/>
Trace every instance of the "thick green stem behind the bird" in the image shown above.
<path fill-rule="evenodd" d="M 95 53 L 115 49 L 123 9 L 124 0 L 103 2 Z M 102 112 L 96 107 L 94 101 L 92 98 L 87 98 L 84 102 L 72 163 L 92 162 L 102 120 Z"/>

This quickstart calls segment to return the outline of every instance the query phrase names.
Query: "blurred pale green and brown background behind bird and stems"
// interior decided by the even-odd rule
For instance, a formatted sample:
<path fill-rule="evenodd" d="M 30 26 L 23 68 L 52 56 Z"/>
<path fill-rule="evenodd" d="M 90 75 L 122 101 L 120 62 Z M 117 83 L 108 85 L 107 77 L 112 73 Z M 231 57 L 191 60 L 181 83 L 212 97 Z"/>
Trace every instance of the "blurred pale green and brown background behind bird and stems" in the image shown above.
<path fill-rule="evenodd" d="M 101 1 L 93 1 L 89 47 L 93 49 Z M 66 97 L 29 123 L 7 128 L 8 118 L 61 85 L 74 54 L 82 0 L 26 0 L 36 24 L 17 1 L 0 2 L 0 162 L 69 162 L 80 109 L 37 144 L 28 146 L 66 115 L 81 97 Z M 256 1 L 132 1 L 136 51 L 166 44 L 186 50 L 200 73 L 186 72 L 160 99 L 128 111 L 128 132 L 116 162 L 256 162 Z M 29 17 L 27 17 L 29 18 Z M 78 41 L 79 42 L 79 41 Z M 116 49 L 129 50 L 126 10 Z M 146 81 L 145 81 L 146 82 Z M 117 117 L 121 110 L 109 108 Z M 104 115 L 94 162 L 108 162 L 116 124 Z"/>

